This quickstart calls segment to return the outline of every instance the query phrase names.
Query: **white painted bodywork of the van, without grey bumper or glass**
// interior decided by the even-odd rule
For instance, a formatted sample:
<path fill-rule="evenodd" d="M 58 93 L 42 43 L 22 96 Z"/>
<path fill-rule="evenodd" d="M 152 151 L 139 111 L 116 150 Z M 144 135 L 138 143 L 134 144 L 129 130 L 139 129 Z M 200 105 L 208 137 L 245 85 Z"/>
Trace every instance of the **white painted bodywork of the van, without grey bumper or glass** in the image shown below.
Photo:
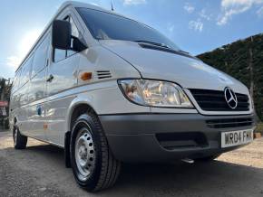
<path fill-rule="evenodd" d="M 207 112 L 202 111 L 191 96 L 189 89 L 218 89 L 230 87 L 236 92 L 248 94 L 248 89 L 228 75 L 215 70 L 201 61 L 154 50 L 141 49 L 135 42 L 102 41 L 98 42 L 83 23 L 74 7 L 89 7 L 102 10 L 97 6 L 67 2 L 59 9 L 54 19 L 63 19 L 66 15 L 73 17 L 87 50 L 73 54 L 71 57 L 54 62 L 52 50 L 48 52 L 47 65 L 43 71 L 31 78 L 24 87 L 12 90 L 10 108 L 10 125 L 16 124 L 25 136 L 32 136 L 63 146 L 64 133 L 70 130 L 71 116 L 74 108 L 80 104 L 91 106 L 98 115 L 126 113 L 201 113 L 206 115 L 250 114 L 248 112 Z M 53 20 L 54 20 L 53 19 Z M 50 30 L 49 23 L 40 36 L 40 40 Z M 51 46 L 50 46 L 51 48 Z M 30 54 L 34 53 L 34 47 Z M 30 56 L 30 55 L 28 55 Z M 26 60 L 27 57 L 24 59 Z M 23 65 L 23 64 L 22 64 Z M 21 66 L 17 71 L 18 80 Z M 108 70 L 109 79 L 99 79 L 97 71 Z M 83 72 L 92 72 L 91 80 L 81 80 Z M 54 80 L 46 82 L 50 75 Z M 119 79 L 170 80 L 185 90 L 196 109 L 149 108 L 133 104 L 124 98 L 118 86 Z M 32 84 L 44 86 L 41 97 Z M 251 105 L 252 106 L 252 105 Z"/>

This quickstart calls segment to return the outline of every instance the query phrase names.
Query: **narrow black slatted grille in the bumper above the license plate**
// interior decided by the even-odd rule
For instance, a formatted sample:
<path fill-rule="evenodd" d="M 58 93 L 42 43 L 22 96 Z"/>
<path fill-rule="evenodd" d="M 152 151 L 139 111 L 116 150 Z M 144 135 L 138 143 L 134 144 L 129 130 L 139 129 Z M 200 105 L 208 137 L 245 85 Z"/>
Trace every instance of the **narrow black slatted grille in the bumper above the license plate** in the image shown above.
<path fill-rule="evenodd" d="M 210 119 L 206 122 L 210 128 L 248 127 L 253 125 L 253 119 L 251 117 Z"/>

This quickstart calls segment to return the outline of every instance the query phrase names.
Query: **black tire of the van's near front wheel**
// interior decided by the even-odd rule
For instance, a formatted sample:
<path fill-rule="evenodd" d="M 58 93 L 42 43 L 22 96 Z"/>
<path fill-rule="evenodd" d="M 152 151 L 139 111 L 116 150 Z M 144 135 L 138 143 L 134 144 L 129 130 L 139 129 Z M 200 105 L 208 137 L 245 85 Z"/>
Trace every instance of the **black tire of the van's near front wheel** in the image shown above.
<path fill-rule="evenodd" d="M 82 150 L 80 150 L 81 148 L 77 151 L 79 155 L 75 154 L 75 149 L 77 149 L 76 145 L 79 147 L 79 139 L 82 137 L 83 141 L 90 139 L 90 137 L 87 136 L 86 139 L 84 138 L 87 129 L 89 129 L 88 135 L 91 136 L 93 140 L 92 148 L 94 151 L 92 156 L 94 159 L 91 160 L 93 161 L 93 164 L 88 164 L 91 155 L 88 155 L 87 153 L 90 153 L 91 149 L 88 149 L 88 151 L 87 148 L 83 149 L 84 157 L 81 155 L 83 154 Z M 112 155 L 106 136 L 103 133 L 102 125 L 93 111 L 90 110 L 75 120 L 71 136 L 70 152 L 74 178 L 83 189 L 88 192 L 98 192 L 112 187 L 116 182 L 120 173 L 121 162 L 117 161 Z M 79 158 L 78 161 L 83 158 L 85 159 L 86 164 L 84 164 L 84 170 L 91 169 L 90 174 L 83 176 L 81 173 L 82 169 L 80 170 L 80 163 L 77 164 L 78 161 L 76 157 Z M 92 167 L 90 168 L 91 165 Z"/>

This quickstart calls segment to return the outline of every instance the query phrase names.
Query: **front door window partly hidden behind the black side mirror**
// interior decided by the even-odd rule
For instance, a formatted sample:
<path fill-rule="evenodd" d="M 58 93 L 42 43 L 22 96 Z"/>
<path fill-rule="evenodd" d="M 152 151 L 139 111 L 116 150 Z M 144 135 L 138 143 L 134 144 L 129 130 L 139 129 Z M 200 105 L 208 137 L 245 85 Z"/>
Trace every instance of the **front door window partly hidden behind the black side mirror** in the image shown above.
<path fill-rule="evenodd" d="M 73 18 L 70 16 L 67 16 L 64 18 L 65 21 L 68 21 L 72 24 L 72 35 L 74 37 L 79 38 L 80 37 L 80 33 L 77 29 L 76 24 L 73 22 Z M 72 47 L 73 47 L 73 39 L 72 39 Z M 64 59 L 66 59 L 69 56 L 72 56 L 73 54 L 75 54 L 76 52 L 73 52 L 72 50 L 58 50 L 58 49 L 54 49 L 54 62 L 57 61 L 62 61 Z"/>

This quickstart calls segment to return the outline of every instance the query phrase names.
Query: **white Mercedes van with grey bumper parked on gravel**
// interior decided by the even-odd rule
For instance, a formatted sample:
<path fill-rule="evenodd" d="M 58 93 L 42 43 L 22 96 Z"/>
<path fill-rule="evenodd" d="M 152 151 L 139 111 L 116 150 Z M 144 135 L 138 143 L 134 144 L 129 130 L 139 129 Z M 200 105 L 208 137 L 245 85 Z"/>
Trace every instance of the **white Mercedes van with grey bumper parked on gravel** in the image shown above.
<path fill-rule="evenodd" d="M 255 127 L 238 80 L 145 24 L 75 2 L 16 70 L 11 99 L 15 148 L 27 137 L 62 147 L 90 192 L 112 186 L 122 162 L 212 160 Z"/>

